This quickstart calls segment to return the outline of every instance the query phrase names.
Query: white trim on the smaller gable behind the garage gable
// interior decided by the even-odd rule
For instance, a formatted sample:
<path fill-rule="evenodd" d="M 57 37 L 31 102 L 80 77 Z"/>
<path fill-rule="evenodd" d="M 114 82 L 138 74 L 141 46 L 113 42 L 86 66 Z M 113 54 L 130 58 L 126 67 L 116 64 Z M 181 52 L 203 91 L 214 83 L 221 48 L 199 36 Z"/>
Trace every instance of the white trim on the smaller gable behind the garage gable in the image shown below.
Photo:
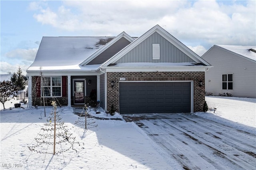
<path fill-rule="evenodd" d="M 86 60 L 84 60 L 82 63 L 80 63 L 80 65 L 88 64 L 90 61 L 92 61 L 94 58 L 96 58 L 98 55 L 100 55 L 102 52 L 104 52 L 106 49 L 108 49 L 108 47 L 110 47 L 111 45 L 116 43 L 121 38 L 126 38 L 126 40 L 128 40 L 129 42 L 133 42 L 134 41 L 134 39 L 131 36 L 129 36 L 125 32 L 122 32 L 121 34 L 119 34 L 118 36 L 113 38 L 113 40 L 108 42 L 106 45 L 102 46 L 100 49 L 95 51 L 90 57 L 88 57 Z"/>

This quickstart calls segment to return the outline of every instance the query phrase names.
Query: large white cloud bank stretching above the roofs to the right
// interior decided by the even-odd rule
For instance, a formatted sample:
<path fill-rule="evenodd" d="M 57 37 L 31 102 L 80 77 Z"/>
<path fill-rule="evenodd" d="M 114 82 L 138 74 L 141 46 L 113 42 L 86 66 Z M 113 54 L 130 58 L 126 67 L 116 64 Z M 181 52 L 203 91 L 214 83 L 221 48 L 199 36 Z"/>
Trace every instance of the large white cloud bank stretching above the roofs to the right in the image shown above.
<path fill-rule="evenodd" d="M 58 10 L 36 6 L 34 18 L 60 30 L 89 36 L 140 36 L 156 24 L 177 39 L 205 44 L 255 45 L 256 2 L 64 1 Z M 88 35 L 83 35 L 88 36 Z M 202 44 L 201 43 L 201 44 Z"/>

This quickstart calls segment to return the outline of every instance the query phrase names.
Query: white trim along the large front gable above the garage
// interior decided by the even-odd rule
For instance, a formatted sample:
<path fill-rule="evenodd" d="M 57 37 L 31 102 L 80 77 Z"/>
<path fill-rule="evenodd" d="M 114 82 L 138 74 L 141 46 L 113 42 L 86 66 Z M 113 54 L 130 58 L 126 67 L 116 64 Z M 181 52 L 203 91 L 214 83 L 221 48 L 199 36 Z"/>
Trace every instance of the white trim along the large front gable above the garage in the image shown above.
<path fill-rule="evenodd" d="M 118 61 L 118 59 L 122 58 L 126 53 L 131 51 L 134 47 L 136 47 L 138 44 L 143 42 L 146 38 L 151 36 L 154 32 L 157 32 L 160 34 L 162 37 L 164 37 L 166 40 L 168 40 L 170 43 L 174 44 L 178 49 L 180 49 L 183 53 L 191 57 L 194 61 L 198 63 L 204 63 L 205 65 L 210 66 L 209 63 L 207 63 L 204 59 L 199 57 L 196 53 L 194 53 L 191 49 L 189 49 L 186 45 L 178 41 L 176 38 L 174 38 L 171 34 L 169 34 L 166 30 L 164 30 L 162 27 L 159 25 L 154 26 L 151 28 L 148 32 L 134 40 L 134 42 L 130 43 L 127 45 L 124 49 L 116 53 L 113 57 L 108 59 L 106 62 L 102 64 L 102 66 L 108 66 L 111 63 L 115 63 Z"/>

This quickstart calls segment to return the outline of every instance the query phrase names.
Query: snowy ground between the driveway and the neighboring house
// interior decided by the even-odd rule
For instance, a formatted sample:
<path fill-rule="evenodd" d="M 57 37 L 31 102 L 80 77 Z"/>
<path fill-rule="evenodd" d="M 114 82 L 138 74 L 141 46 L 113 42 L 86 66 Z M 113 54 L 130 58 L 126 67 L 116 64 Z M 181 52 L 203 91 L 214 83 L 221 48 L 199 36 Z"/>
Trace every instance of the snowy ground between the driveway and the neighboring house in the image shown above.
<path fill-rule="evenodd" d="M 206 96 L 205 100 L 208 108 L 216 108 L 215 113 L 212 110 L 196 115 L 256 134 L 255 98 Z"/>

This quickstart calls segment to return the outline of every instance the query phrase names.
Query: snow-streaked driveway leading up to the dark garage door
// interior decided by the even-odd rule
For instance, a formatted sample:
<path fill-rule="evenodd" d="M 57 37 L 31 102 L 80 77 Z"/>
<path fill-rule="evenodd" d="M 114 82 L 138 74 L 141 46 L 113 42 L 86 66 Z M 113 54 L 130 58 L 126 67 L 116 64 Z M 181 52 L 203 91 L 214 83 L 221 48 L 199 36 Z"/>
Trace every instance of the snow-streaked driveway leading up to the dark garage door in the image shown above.
<path fill-rule="evenodd" d="M 256 135 L 191 114 L 124 115 L 184 169 L 255 169 Z"/>

